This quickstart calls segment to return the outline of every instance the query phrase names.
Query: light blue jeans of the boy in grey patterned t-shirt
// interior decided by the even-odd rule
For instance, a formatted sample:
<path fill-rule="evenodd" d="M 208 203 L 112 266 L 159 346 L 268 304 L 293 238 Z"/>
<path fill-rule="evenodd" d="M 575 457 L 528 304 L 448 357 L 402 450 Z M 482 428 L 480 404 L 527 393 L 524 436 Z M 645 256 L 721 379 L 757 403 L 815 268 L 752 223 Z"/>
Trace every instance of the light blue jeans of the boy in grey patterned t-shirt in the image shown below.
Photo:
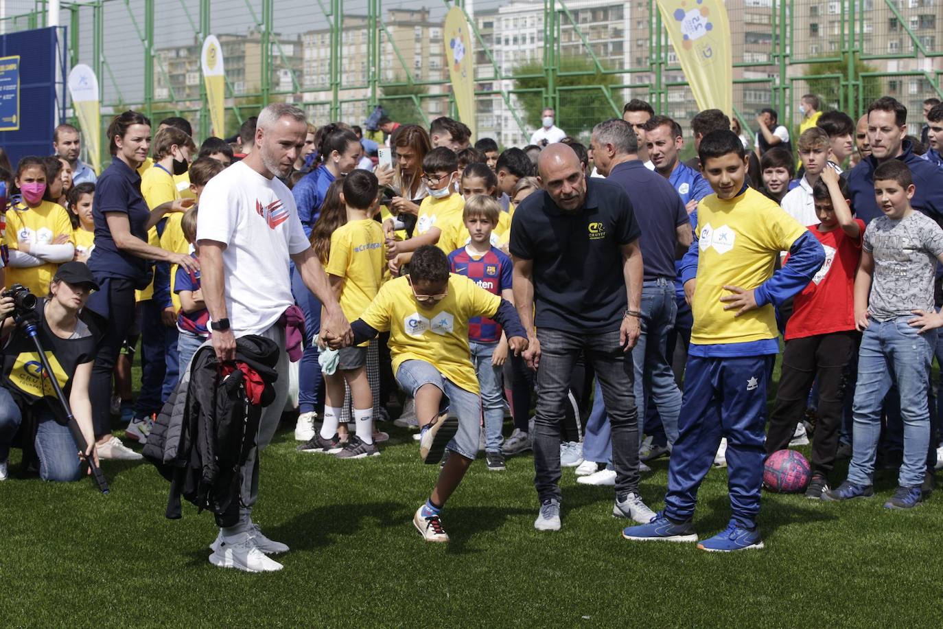
<path fill-rule="evenodd" d="M 923 483 L 930 444 L 927 391 L 936 330 L 918 334 L 917 328 L 907 323 L 909 318 L 871 321 L 861 337 L 858 383 L 854 390 L 852 463 L 848 466 L 848 480 L 855 485 L 871 484 L 881 414 L 891 384 L 896 384 L 901 394 L 903 422 L 903 464 L 898 484 L 919 487 Z"/>

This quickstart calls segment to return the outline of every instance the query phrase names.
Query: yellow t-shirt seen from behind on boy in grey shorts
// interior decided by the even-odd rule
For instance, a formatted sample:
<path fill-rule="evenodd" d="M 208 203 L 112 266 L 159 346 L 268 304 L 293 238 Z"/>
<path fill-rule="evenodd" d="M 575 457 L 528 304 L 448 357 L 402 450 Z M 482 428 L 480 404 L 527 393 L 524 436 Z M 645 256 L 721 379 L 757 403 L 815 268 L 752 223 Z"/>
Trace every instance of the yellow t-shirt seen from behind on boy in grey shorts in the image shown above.
<path fill-rule="evenodd" d="M 356 321 L 376 297 L 387 267 L 383 227 L 372 219 L 351 221 L 331 234 L 326 273 L 343 277 L 340 309 Z"/>

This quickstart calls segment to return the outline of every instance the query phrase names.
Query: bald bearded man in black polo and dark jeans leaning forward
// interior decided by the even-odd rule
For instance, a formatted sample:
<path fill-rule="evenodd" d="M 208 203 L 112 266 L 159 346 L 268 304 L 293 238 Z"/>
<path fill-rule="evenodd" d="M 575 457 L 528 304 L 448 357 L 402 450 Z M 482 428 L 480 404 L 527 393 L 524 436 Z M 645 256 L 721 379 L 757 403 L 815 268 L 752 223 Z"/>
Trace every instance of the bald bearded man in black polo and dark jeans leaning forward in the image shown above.
<path fill-rule="evenodd" d="M 540 513 L 534 527 L 560 528 L 560 427 L 573 362 L 584 351 L 612 423 L 613 513 L 647 522 L 654 514 L 638 495 L 630 353 L 640 333 L 642 289 L 632 203 L 619 185 L 587 180 L 566 144 L 551 144 L 540 153 L 538 173 L 544 191 L 521 202 L 510 241 L 514 301 L 532 343 L 524 358 L 537 370 L 534 468 Z"/>

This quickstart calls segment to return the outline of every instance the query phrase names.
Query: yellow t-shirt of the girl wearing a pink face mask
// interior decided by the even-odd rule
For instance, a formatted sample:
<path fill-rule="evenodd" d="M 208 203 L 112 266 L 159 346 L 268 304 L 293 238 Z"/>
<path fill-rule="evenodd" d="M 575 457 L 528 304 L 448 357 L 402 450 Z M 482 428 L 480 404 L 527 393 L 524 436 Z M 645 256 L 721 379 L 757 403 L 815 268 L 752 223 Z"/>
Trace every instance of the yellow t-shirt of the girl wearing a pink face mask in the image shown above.
<path fill-rule="evenodd" d="M 4 244 L 9 249 L 19 250 L 20 243 L 52 244 L 62 234 L 75 244 L 69 212 L 58 203 L 43 201 L 37 207 L 28 207 L 21 202 L 7 210 Z M 9 266 L 6 270 L 7 286 L 22 284 L 37 297 L 45 297 L 57 269 L 55 262 L 45 262 L 36 267 Z"/>

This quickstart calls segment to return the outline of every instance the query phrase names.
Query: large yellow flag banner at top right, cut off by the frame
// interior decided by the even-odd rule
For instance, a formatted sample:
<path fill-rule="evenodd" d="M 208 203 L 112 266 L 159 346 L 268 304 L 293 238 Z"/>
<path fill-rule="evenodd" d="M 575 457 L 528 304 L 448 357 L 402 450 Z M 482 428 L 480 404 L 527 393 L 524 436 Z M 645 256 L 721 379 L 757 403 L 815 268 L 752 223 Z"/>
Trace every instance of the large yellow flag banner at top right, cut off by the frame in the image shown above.
<path fill-rule="evenodd" d="M 656 1 L 698 108 L 733 115 L 733 52 L 722 0 Z"/>

